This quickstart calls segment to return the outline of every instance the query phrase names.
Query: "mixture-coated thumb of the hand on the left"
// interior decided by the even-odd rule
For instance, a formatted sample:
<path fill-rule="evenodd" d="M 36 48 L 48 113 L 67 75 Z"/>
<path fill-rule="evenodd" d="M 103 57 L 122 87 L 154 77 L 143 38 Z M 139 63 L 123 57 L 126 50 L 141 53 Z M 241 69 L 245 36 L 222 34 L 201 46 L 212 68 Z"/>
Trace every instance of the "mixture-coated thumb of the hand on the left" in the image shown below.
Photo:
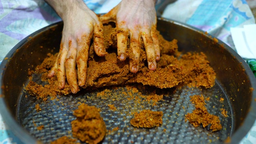
<path fill-rule="evenodd" d="M 101 22 L 94 25 L 93 48 L 98 56 L 105 56 L 106 49 L 104 48 L 103 25 Z"/>

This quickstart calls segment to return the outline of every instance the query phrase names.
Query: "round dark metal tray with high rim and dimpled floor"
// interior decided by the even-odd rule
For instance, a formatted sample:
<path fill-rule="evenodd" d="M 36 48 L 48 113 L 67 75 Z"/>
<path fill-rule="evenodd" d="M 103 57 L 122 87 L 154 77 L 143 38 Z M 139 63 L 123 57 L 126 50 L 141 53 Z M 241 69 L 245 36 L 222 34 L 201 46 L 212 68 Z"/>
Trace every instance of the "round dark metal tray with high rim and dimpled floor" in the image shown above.
<path fill-rule="evenodd" d="M 108 130 L 118 127 L 118 130 L 108 132 L 103 143 L 222 143 L 228 136 L 232 143 L 238 143 L 254 123 L 256 80 L 246 62 L 226 44 L 214 42 L 211 36 L 200 30 L 164 19 L 158 19 L 158 30 L 164 38 L 176 38 L 182 52 L 204 52 L 208 56 L 217 74 L 214 87 L 201 89 L 185 86 L 176 91 L 155 89 L 164 95 L 164 100 L 156 106 L 146 102 L 138 104 L 135 100 L 127 101 L 122 95 L 123 91 L 128 91 L 124 86 L 108 88 L 118 95 L 116 100 L 110 98 L 103 101 L 97 98 L 96 93 L 102 88 L 58 96 L 59 100 L 48 102 L 36 100 L 24 90 L 28 82 L 28 68 L 34 69 L 39 65 L 48 52 L 58 52 L 62 27 L 63 23 L 58 22 L 28 36 L 8 53 L 9 59 L 0 66 L 0 112 L 6 124 L 24 143 L 37 140 L 48 143 L 64 135 L 71 136 L 70 122 L 75 118 L 72 111 L 79 102 L 100 108 Z M 35 81 L 39 82 L 39 78 L 39 75 L 34 75 Z M 141 92 L 147 94 L 150 90 L 152 88 L 147 87 Z M 194 128 L 185 122 L 184 115 L 194 109 L 189 101 L 189 96 L 194 94 L 210 97 L 210 101 L 206 101 L 206 108 L 211 114 L 220 117 L 222 130 L 211 132 L 209 127 Z M 219 101 L 220 97 L 224 98 L 224 102 Z M 35 104 L 40 104 L 42 111 L 36 112 Z M 110 110 L 107 104 L 114 104 L 117 110 Z M 145 108 L 164 112 L 162 126 L 143 129 L 130 125 L 131 112 Z M 220 108 L 228 111 L 227 118 L 222 116 Z M 44 125 L 44 129 L 39 131 L 36 127 L 40 125 Z"/>

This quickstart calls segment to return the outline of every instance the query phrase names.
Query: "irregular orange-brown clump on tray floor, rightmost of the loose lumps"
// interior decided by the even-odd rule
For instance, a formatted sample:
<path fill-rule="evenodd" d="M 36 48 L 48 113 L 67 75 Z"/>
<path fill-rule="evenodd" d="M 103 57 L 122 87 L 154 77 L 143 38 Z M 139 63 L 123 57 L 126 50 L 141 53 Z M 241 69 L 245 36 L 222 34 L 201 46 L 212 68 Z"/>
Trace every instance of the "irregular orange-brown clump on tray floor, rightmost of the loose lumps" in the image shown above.
<path fill-rule="evenodd" d="M 193 110 L 192 113 L 186 114 L 185 121 L 188 120 L 194 127 L 198 127 L 200 124 L 202 124 L 202 126 L 205 128 L 211 124 L 210 129 L 212 132 L 222 129 L 219 117 L 208 113 L 205 107 L 206 103 L 204 101 L 204 96 L 190 96 L 190 101 L 192 104 L 195 104 L 196 109 Z"/>

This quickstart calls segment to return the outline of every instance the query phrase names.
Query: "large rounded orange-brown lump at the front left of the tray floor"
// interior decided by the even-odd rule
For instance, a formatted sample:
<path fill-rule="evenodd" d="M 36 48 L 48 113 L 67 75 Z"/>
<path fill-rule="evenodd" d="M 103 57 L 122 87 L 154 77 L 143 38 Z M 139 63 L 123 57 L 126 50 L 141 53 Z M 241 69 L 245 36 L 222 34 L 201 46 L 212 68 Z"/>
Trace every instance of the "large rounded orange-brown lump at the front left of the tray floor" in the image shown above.
<path fill-rule="evenodd" d="M 71 126 L 75 138 L 88 144 L 97 144 L 103 140 L 106 125 L 99 111 L 95 106 L 88 106 L 84 103 L 74 110 L 76 120 L 71 122 Z"/>

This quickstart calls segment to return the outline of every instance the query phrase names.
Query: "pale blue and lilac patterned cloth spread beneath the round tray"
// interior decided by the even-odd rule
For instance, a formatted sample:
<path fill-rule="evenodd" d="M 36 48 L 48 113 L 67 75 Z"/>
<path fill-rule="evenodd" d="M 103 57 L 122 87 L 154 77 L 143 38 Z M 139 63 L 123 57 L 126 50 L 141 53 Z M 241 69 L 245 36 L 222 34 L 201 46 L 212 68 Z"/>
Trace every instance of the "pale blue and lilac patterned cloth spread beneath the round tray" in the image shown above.
<path fill-rule="evenodd" d="M 97 14 L 108 12 L 120 1 L 84 0 L 87 6 Z M 163 1 L 157 1 L 156 9 Z M 164 9 L 162 17 L 207 31 L 234 50 L 236 49 L 230 28 L 255 24 L 254 16 L 246 0 L 177 0 Z M 60 17 L 44 0 L 0 0 L 0 62 L 20 40 L 60 20 Z M 0 115 L 0 144 L 12 143 L 22 142 L 9 130 Z M 240 143 L 256 143 L 256 123 Z"/>

